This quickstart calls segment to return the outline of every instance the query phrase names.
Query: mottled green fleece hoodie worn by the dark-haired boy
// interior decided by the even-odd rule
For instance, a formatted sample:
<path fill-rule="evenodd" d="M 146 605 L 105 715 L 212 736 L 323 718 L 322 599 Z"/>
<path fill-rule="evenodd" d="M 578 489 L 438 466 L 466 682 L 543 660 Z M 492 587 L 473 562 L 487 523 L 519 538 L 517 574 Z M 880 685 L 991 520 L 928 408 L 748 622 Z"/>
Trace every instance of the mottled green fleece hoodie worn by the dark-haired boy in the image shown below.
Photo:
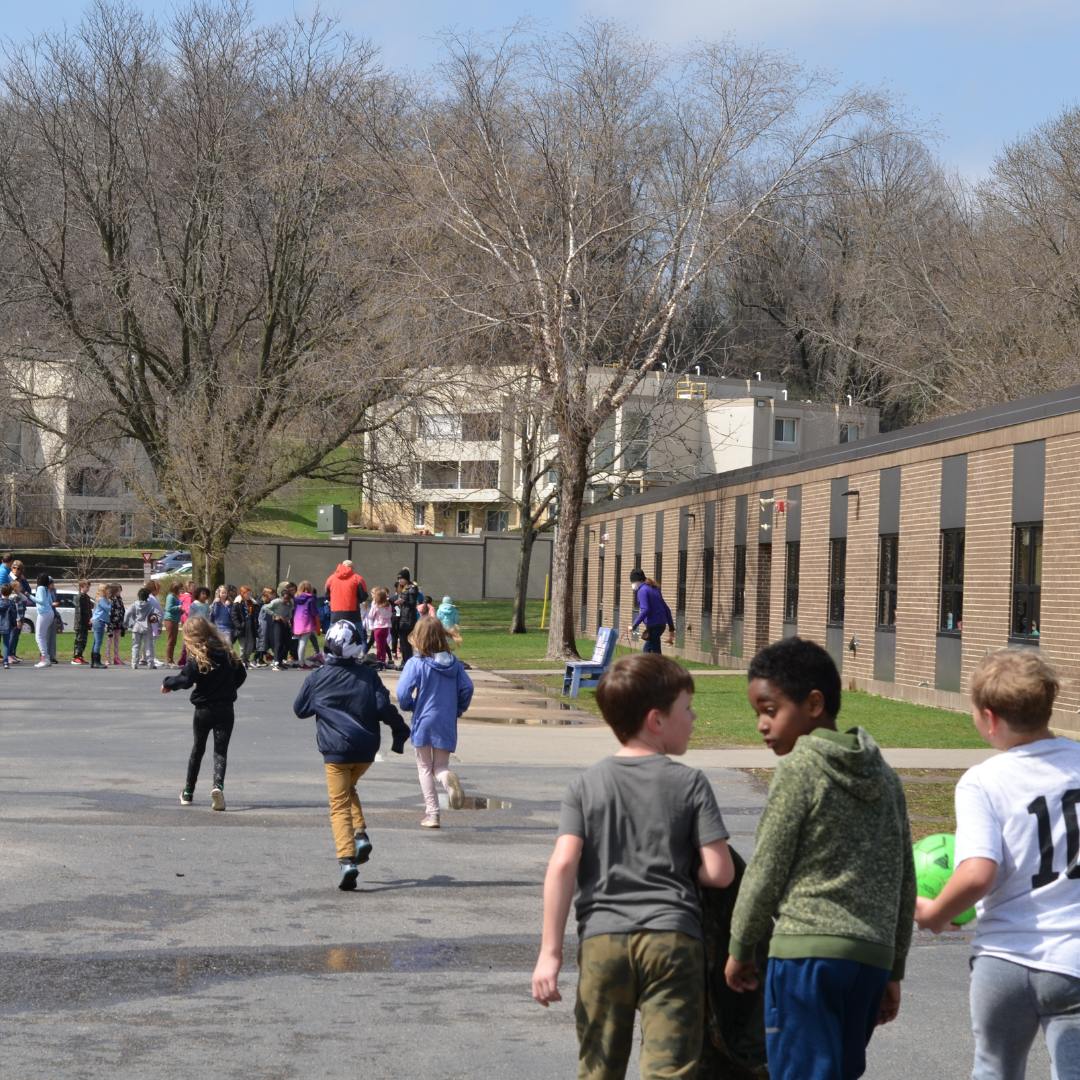
<path fill-rule="evenodd" d="M 904 977 L 915 918 L 904 788 L 862 729 L 818 728 L 782 757 L 731 916 L 730 951 L 859 960 Z"/>

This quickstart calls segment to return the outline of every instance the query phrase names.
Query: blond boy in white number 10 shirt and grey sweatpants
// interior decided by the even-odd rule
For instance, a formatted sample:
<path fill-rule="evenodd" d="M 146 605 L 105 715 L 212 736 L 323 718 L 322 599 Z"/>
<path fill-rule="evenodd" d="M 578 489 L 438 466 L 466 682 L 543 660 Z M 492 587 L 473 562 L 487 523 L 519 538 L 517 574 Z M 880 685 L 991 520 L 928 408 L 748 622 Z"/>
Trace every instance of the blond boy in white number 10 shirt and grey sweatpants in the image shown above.
<path fill-rule="evenodd" d="M 976 904 L 973 1080 L 1023 1080 L 1040 1025 L 1054 1080 L 1080 1080 L 1080 743 L 1050 730 L 1058 688 L 1035 649 L 975 669 L 975 727 L 1003 753 L 957 784 L 956 869 L 916 902 L 934 933 Z"/>

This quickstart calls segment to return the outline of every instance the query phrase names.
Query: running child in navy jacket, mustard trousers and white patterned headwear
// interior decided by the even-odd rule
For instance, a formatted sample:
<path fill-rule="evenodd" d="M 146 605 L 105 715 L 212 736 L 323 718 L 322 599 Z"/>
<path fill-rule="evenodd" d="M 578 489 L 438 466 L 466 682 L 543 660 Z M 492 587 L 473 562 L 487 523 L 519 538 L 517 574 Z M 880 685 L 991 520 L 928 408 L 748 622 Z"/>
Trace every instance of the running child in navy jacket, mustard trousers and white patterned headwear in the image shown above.
<path fill-rule="evenodd" d="M 363 638 L 354 623 L 343 619 L 334 623 L 323 651 L 325 666 L 305 679 L 293 712 L 301 720 L 315 717 L 340 866 L 338 888 L 350 890 L 356 888 L 357 863 L 366 863 L 372 854 L 356 782 L 379 752 L 379 721 L 393 732 L 394 754 L 404 753 L 408 726 L 378 674 L 356 662 L 363 652 Z"/>

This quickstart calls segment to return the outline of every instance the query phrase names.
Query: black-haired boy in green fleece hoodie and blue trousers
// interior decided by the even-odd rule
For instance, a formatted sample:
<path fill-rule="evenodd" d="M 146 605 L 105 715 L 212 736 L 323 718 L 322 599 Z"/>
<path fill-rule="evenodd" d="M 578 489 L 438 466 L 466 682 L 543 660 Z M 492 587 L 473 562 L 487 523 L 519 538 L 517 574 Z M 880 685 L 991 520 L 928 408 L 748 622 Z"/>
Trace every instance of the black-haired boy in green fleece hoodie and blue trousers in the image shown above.
<path fill-rule="evenodd" d="M 748 697 L 780 757 L 731 916 L 725 975 L 757 987 L 772 918 L 765 1031 L 772 1080 L 854 1080 L 900 1010 L 915 863 L 904 789 L 862 729 L 836 730 L 840 675 L 789 637 L 751 661 Z"/>

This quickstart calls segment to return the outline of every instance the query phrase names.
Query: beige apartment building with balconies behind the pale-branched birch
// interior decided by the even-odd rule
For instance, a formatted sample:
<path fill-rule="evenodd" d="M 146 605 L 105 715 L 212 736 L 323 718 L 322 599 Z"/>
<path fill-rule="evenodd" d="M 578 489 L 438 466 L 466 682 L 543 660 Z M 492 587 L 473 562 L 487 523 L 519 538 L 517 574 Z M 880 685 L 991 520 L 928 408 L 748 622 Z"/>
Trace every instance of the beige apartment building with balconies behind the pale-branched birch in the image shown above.
<path fill-rule="evenodd" d="M 603 373 L 592 382 L 600 393 Z M 409 445 L 395 448 L 411 456 L 410 490 L 382 502 L 365 497 L 374 504 L 373 516 L 392 521 L 401 531 L 445 536 L 518 528 L 517 417 L 507 386 L 488 386 L 484 393 L 460 383 L 441 390 L 418 406 Z M 876 409 L 796 401 L 780 382 L 656 372 L 598 432 L 585 498 L 592 503 L 666 488 L 855 442 L 877 430 Z M 557 435 L 545 431 L 542 459 L 554 461 L 557 449 Z M 538 501 L 555 483 L 555 470 L 544 470 Z M 365 491 L 373 489 L 365 480 Z"/>

